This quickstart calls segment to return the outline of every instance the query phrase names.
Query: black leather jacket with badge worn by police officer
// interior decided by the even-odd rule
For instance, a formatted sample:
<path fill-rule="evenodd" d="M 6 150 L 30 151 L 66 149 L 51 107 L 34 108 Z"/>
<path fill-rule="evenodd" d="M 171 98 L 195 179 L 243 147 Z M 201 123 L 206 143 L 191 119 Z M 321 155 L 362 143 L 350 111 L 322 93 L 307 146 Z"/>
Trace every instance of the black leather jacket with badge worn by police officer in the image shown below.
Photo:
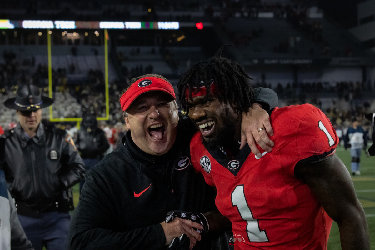
<path fill-rule="evenodd" d="M 0 169 L 16 203 L 46 211 L 62 190 L 83 178 L 84 164 L 65 130 L 40 123 L 36 135 L 28 138 L 18 123 L 5 136 L 5 162 L 0 163 Z M 22 214 L 20 209 L 18 214 Z"/>

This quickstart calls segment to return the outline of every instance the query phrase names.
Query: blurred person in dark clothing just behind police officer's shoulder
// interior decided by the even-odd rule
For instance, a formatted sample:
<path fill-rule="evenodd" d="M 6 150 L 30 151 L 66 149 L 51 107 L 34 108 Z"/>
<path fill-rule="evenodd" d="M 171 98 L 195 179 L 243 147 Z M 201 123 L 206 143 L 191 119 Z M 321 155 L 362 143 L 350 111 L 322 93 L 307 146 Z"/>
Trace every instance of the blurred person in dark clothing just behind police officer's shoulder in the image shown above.
<path fill-rule="evenodd" d="M 96 165 L 104 156 L 105 151 L 110 148 L 108 139 L 103 130 L 98 127 L 98 121 L 94 114 L 84 114 L 81 128 L 77 131 L 75 145 L 80 151 L 86 171 Z M 80 194 L 82 192 L 85 178 L 80 181 Z"/>

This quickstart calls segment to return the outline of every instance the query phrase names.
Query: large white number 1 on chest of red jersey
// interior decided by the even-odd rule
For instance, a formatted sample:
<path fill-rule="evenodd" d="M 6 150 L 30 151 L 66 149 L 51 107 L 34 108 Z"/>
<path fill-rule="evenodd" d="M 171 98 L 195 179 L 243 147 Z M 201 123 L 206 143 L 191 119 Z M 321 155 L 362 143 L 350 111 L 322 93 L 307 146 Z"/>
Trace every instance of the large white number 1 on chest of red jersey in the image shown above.
<path fill-rule="evenodd" d="M 243 185 L 237 186 L 232 192 L 232 205 L 237 207 L 243 220 L 246 220 L 246 231 L 250 242 L 269 242 L 266 231 L 260 230 L 258 220 L 254 219 L 253 214 L 246 202 Z"/>

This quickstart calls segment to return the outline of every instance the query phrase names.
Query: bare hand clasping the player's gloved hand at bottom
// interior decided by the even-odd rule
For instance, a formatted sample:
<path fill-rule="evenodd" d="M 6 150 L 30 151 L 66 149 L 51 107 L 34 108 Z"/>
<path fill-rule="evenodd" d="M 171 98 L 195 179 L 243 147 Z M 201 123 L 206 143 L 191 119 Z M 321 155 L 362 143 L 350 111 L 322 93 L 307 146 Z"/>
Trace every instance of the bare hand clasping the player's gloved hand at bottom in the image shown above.
<path fill-rule="evenodd" d="M 186 236 L 190 238 L 190 250 L 193 248 L 193 246 L 195 246 L 196 241 L 200 241 L 202 239 L 201 235 L 194 230 L 194 228 L 203 229 L 203 226 L 196 222 L 192 222 L 191 220 L 175 218 L 172 222 L 162 222 L 160 225 L 162 225 L 164 230 L 167 246 L 171 244 L 174 238 L 180 238 L 183 234 L 186 234 Z"/>

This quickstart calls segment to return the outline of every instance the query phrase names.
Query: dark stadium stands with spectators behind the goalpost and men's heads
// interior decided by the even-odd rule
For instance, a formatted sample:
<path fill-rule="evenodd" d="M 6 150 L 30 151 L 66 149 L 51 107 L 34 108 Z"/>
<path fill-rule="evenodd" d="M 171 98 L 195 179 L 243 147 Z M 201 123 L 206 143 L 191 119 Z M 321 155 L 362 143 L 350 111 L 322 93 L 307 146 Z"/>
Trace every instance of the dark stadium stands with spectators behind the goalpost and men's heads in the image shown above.
<path fill-rule="evenodd" d="M 117 97 L 124 82 L 154 72 L 175 84 L 181 73 L 211 56 L 223 43 L 234 43 L 225 55 L 245 65 L 254 86 L 277 91 L 281 105 L 311 102 L 326 110 L 335 102 L 338 109 L 351 112 L 362 112 L 364 103 L 373 107 L 374 54 L 362 50 L 347 29 L 316 6 L 314 2 L 296 4 L 289 0 L 278 4 L 270 0 L 220 4 L 209 0 L 173 4 L 110 0 L 87 5 L 16 0 L 4 4 L 0 14 L 11 20 L 37 16 L 76 21 L 173 20 L 184 24 L 179 30 L 108 30 L 111 124 L 122 121 Z M 198 21 L 204 22 L 204 30 L 195 27 Z M 45 30 L 0 32 L 1 100 L 12 96 L 14 86 L 21 82 L 33 82 L 48 91 Z M 53 117 L 80 117 L 82 108 L 90 105 L 104 117 L 104 33 L 81 29 L 70 39 L 69 32 L 52 30 L 51 35 L 56 99 Z M 1 113 L 0 125 L 6 127 L 15 120 L 12 112 L 1 109 Z M 342 119 L 350 118 L 351 114 L 344 113 Z"/>

